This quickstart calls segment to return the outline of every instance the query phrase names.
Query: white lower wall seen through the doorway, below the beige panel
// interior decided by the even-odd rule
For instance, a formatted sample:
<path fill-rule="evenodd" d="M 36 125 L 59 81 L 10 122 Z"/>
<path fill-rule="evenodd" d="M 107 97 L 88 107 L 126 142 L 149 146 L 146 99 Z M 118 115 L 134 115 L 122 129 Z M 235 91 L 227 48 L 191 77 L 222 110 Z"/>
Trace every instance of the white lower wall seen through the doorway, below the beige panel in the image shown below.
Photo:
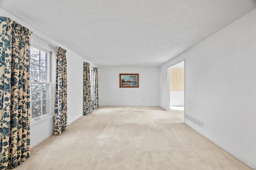
<path fill-rule="evenodd" d="M 170 91 L 170 106 L 184 106 L 184 91 Z"/>

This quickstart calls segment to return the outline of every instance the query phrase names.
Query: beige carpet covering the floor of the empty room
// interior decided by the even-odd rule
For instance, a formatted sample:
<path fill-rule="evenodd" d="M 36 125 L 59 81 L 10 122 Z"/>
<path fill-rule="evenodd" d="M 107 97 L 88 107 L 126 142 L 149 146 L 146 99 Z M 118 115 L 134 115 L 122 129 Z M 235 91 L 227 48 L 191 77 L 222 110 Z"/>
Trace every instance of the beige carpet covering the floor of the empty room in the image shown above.
<path fill-rule="evenodd" d="M 100 107 L 16 170 L 250 169 L 182 121 L 183 111 L 160 107 Z"/>

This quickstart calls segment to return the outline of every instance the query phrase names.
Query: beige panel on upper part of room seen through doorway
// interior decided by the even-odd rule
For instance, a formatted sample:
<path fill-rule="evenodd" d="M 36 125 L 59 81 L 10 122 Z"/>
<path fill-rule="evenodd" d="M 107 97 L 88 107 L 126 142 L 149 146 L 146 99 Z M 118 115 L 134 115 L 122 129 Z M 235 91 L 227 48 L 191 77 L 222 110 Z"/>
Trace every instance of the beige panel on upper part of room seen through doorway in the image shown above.
<path fill-rule="evenodd" d="M 170 90 L 183 91 L 184 90 L 184 68 L 170 69 Z"/>

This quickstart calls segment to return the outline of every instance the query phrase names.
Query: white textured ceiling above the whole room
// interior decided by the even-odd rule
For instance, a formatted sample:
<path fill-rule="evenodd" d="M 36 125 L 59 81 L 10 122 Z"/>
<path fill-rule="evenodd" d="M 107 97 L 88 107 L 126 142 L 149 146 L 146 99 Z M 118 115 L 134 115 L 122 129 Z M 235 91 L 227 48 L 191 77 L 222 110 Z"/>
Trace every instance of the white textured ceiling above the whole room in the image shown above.
<path fill-rule="evenodd" d="M 161 66 L 256 1 L 2 0 L 0 7 L 97 66 Z"/>

